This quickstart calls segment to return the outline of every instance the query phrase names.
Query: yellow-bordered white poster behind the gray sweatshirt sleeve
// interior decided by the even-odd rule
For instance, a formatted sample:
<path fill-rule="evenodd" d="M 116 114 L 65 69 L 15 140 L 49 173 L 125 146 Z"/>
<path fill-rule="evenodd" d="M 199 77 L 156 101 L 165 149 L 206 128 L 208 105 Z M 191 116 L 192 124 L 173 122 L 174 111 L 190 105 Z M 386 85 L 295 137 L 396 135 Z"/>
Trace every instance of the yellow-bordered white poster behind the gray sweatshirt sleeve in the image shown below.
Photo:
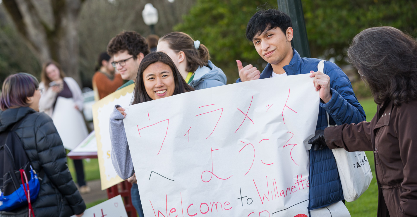
<path fill-rule="evenodd" d="M 100 167 L 101 190 L 116 185 L 123 180 L 116 174 L 111 163 L 111 142 L 109 117 L 115 105 L 127 107 L 133 96 L 133 86 L 129 85 L 104 97 L 93 105 L 93 122 L 97 140 L 97 157 Z"/>

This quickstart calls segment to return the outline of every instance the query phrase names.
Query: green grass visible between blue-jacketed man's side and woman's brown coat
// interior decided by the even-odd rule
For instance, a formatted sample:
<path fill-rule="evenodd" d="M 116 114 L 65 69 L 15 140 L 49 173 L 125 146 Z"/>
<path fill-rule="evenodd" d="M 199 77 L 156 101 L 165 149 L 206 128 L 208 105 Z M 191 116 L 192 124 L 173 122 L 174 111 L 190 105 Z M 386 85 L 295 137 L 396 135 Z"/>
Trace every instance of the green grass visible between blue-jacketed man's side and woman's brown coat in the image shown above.
<path fill-rule="evenodd" d="M 377 105 L 374 102 L 373 98 L 359 100 L 362 107 L 365 110 L 367 116 L 367 121 L 371 121 L 377 112 Z M 377 216 L 377 207 L 378 207 L 378 186 L 377 180 L 375 177 L 375 166 L 374 166 L 374 154 L 372 151 L 365 152 L 369 160 L 369 165 L 372 170 L 372 181 L 369 185 L 368 190 L 366 190 L 362 196 L 355 200 L 354 202 L 347 202 L 346 207 L 350 212 L 352 217 L 374 217 Z"/>

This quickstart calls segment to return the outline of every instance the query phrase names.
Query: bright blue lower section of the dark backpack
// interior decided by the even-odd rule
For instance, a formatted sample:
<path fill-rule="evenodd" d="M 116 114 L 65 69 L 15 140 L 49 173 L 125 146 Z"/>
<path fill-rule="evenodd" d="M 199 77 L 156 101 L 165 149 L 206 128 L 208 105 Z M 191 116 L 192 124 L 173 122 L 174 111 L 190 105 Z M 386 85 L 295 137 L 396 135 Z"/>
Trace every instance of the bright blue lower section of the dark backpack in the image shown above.
<path fill-rule="evenodd" d="M 28 175 L 28 174 L 27 174 Z M 23 178 L 24 180 L 25 178 Z M 20 180 L 19 180 L 20 181 Z M 33 172 L 32 167 L 30 167 L 30 180 L 29 184 L 29 192 L 30 192 L 30 202 L 38 198 L 40 183 L 38 180 L 38 175 Z M 26 187 L 26 186 L 25 186 Z M 1 191 L 0 191 L 1 192 Z M 13 192 L 13 194 L 4 196 L 3 192 L 0 193 L 0 210 L 4 211 L 11 211 L 16 209 L 17 207 L 21 207 L 23 204 L 28 204 L 28 200 L 26 199 L 25 190 L 23 189 L 23 184 L 20 184 L 18 190 Z"/>

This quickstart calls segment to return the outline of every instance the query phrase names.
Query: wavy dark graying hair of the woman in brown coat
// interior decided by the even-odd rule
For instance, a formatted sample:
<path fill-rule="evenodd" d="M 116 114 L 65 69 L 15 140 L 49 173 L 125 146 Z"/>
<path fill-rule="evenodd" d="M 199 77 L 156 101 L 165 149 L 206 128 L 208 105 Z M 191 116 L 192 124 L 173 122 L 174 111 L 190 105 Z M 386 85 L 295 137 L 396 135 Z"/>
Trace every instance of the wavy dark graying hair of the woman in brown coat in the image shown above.
<path fill-rule="evenodd" d="M 401 105 L 417 99 L 417 41 L 390 26 L 363 30 L 347 50 L 374 101 Z"/>

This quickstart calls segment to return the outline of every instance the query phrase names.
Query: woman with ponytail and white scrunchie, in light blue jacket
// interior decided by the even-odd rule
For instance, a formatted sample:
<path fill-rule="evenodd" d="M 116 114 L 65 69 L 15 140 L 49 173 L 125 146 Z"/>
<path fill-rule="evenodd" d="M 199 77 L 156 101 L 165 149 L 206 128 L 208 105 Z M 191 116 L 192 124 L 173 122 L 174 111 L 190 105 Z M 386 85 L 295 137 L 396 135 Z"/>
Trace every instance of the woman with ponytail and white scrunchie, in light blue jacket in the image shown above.
<path fill-rule="evenodd" d="M 226 85 L 226 75 L 209 60 L 207 47 L 184 32 L 163 35 L 156 50 L 171 57 L 181 76 L 195 90 Z"/>

